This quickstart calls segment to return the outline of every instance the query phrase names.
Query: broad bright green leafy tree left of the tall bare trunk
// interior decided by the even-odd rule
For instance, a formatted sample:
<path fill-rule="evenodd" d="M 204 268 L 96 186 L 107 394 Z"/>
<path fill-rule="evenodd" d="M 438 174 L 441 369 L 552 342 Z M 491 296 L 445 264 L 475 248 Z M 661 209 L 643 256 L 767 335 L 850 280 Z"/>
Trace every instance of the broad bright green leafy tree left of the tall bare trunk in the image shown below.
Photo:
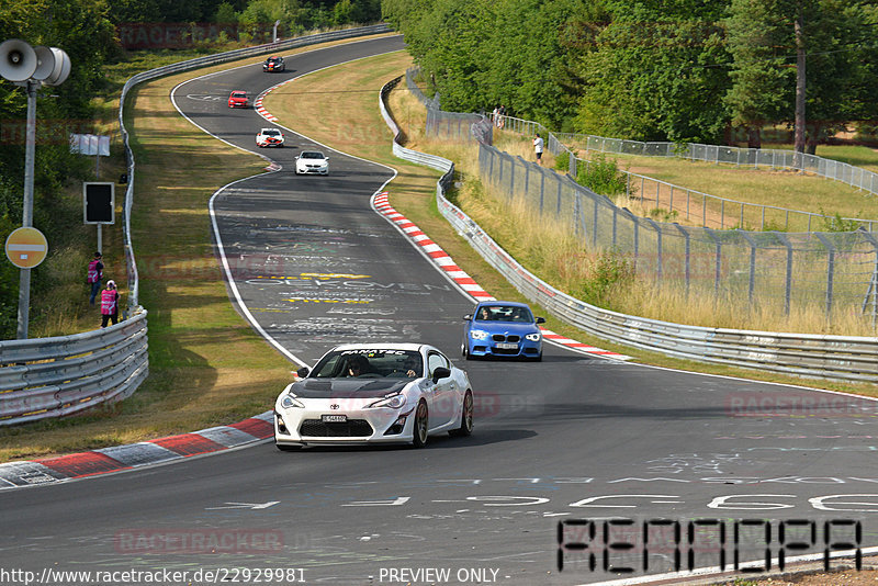
<path fill-rule="evenodd" d="M 639 140 L 716 142 L 728 112 L 721 3 L 607 0 L 569 45 L 581 93 L 576 129 Z"/>

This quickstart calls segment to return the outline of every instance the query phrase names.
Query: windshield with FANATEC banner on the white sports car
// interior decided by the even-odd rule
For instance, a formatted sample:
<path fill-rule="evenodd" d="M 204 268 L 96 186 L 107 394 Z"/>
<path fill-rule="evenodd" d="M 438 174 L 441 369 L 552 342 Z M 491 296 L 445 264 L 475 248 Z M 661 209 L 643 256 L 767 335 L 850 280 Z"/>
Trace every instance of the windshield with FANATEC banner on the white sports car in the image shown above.
<path fill-rule="evenodd" d="M 423 376 L 424 361 L 416 350 L 382 348 L 334 351 L 320 359 L 308 379 L 379 379 Z"/>

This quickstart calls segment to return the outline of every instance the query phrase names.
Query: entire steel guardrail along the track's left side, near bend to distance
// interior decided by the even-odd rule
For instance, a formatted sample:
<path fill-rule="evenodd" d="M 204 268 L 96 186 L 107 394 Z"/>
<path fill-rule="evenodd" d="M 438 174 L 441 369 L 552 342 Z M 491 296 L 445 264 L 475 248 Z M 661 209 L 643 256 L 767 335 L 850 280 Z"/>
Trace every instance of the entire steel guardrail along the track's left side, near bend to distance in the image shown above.
<path fill-rule="evenodd" d="M 125 82 L 119 106 L 127 161 L 124 246 L 128 272 L 130 319 L 105 329 L 30 340 L 0 341 L 0 426 L 78 413 L 101 403 L 121 401 L 149 373 L 146 312 L 139 307 L 139 280 L 131 240 L 134 205 L 134 154 L 124 123 L 128 91 L 150 79 L 266 53 L 390 32 L 386 24 L 335 31 L 279 43 L 210 55 L 137 74 Z"/>

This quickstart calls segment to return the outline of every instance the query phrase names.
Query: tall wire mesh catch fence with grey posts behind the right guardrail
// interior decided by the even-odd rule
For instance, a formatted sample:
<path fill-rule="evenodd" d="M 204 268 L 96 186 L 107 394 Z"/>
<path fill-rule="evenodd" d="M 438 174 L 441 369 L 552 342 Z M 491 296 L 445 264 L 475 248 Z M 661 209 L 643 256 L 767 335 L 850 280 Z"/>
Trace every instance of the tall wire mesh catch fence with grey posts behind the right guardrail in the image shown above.
<path fill-rule="evenodd" d="M 414 75 L 415 70 L 407 72 L 409 87 L 416 87 Z M 454 134 L 457 126 L 443 122 L 447 113 L 437 103 L 438 99 L 425 103 L 428 117 L 436 121 L 434 127 L 446 128 L 448 139 L 471 140 L 472 133 L 464 128 Z M 459 120 L 458 114 L 448 115 Z M 559 136 L 538 123 L 506 116 L 503 126 L 524 135 L 545 133 L 548 150 L 573 157 Z M 865 314 L 873 327 L 878 326 L 878 239 L 863 227 L 758 232 L 658 222 L 579 185 L 570 174 L 483 143 L 479 170 L 483 183 L 509 203 L 524 202 L 554 229 L 570 230 L 592 250 L 610 251 L 639 278 L 662 288 L 784 314 L 818 308 L 830 322 L 842 314 Z"/>

